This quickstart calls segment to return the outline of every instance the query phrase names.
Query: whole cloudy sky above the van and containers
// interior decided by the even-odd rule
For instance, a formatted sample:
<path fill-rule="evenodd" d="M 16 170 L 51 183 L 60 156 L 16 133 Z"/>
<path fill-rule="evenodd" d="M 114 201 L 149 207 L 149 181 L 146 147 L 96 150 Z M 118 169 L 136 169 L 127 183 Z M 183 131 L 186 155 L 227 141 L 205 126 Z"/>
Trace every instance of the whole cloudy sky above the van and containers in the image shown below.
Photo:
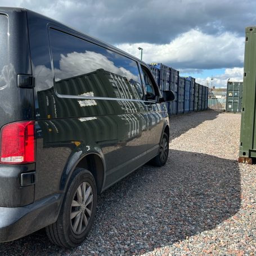
<path fill-rule="evenodd" d="M 0 0 L 25 7 L 131 53 L 163 63 L 196 82 L 242 81 L 245 27 L 255 0 Z M 213 80 L 211 80 L 213 78 Z"/>

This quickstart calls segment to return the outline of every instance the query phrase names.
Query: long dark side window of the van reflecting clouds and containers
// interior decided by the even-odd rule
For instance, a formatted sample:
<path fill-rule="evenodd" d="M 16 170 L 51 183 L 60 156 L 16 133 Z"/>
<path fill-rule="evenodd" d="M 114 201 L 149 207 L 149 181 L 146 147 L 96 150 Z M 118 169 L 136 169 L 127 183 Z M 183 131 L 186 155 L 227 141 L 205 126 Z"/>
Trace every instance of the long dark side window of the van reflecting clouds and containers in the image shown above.
<path fill-rule="evenodd" d="M 59 94 L 142 100 L 136 61 L 55 29 L 50 42 Z"/>

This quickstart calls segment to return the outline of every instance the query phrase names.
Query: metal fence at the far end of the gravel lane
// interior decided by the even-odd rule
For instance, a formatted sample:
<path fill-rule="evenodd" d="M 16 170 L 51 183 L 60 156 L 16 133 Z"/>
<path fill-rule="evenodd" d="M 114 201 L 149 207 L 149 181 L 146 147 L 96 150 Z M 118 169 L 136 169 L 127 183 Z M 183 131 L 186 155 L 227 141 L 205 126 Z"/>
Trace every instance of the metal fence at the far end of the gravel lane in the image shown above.
<path fill-rule="evenodd" d="M 226 111 L 226 92 L 209 92 L 208 109 L 214 111 Z"/>

